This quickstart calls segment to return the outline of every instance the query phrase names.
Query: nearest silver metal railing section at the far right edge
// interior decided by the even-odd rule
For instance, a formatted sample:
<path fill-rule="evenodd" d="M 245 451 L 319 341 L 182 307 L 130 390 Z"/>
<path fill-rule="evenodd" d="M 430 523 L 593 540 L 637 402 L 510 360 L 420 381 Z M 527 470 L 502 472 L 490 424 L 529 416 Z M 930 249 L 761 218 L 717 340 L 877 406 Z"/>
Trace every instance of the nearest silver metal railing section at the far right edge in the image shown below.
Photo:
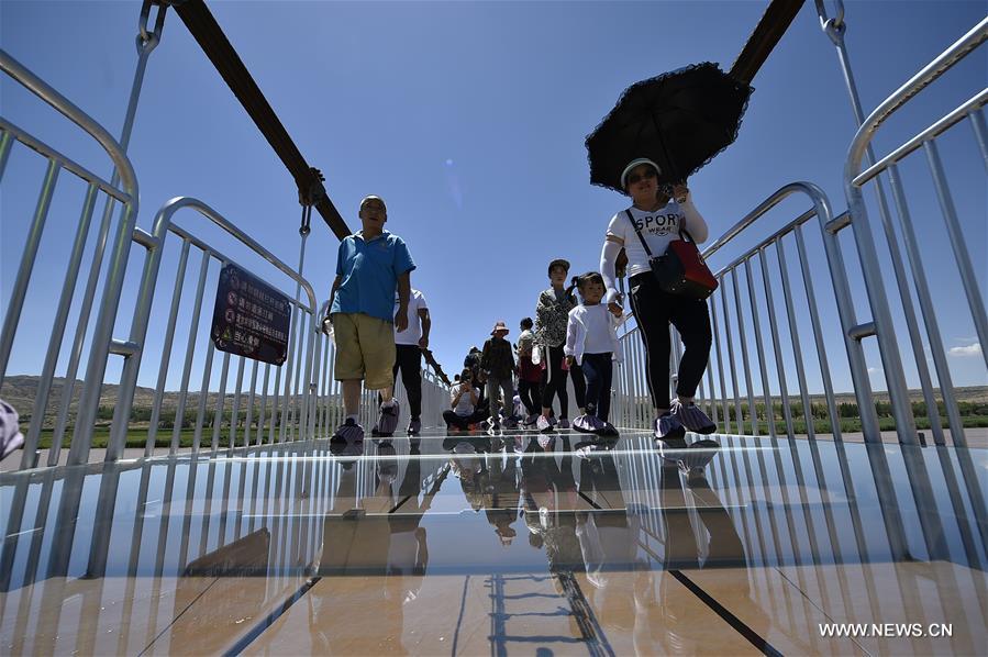
<path fill-rule="evenodd" d="M 929 345 L 933 359 L 936 379 L 940 385 L 946 419 L 951 428 L 951 439 L 954 445 L 966 445 L 961 413 L 957 408 L 956 396 L 952 383 L 951 370 L 946 359 L 946 349 L 940 331 L 933 297 L 930 292 L 929 279 L 922 260 L 922 248 L 918 242 L 912 223 L 909 202 L 907 200 L 901 178 L 897 169 L 898 165 L 911 153 L 923 151 L 933 178 L 936 197 L 943 213 L 945 229 L 951 243 L 956 267 L 959 274 L 962 287 L 967 301 L 967 308 L 972 315 L 975 331 L 981 347 L 981 355 L 988 368 L 988 316 L 985 312 L 985 298 L 979 289 L 978 276 L 972 265 L 970 254 L 965 244 L 964 234 L 958 221 L 957 212 L 951 194 L 947 176 L 936 145 L 939 136 L 948 129 L 967 120 L 973 129 L 973 136 L 986 166 L 988 166 L 988 140 L 986 140 L 985 116 L 983 107 L 988 102 L 988 89 L 977 91 L 969 100 L 963 102 L 953 111 L 934 121 L 929 127 L 893 148 L 888 155 L 867 166 L 866 154 L 869 160 L 874 160 L 872 142 L 879 126 L 895 112 L 901 109 L 909 100 L 914 98 L 931 82 L 941 77 L 945 71 L 958 62 L 970 55 L 975 49 L 988 40 L 988 19 L 983 20 L 967 34 L 961 37 L 951 47 L 944 51 L 933 62 L 928 64 L 915 76 L 902 85 L 885 101 L 882 101 L 872 114 L 864 120 L 847 153 L 847 162 L 844 167 L 844 191 L 847 197 L 847 207 L 851 215 L 850 225 L 854 231 L 855 244 L 862 261 L 862 271 L 865 278 L 865 287 L 868 291 L 868 300 L 874 316 L 874 326 L 868 331 L 862 331 L 862 337 L 874 334 L 877 337 L 881 352 L 885 379 L 889 387 L 892 409 L 896 417 L 896 428 L 899 439 L 903 443 L 915 442 L 915 426 L 912 419 L 911 403 L 906 383 L 906 375 L 902 368 L 902 356 L 899 353 L 899 339 L 893 324 L 891 309 L 887 302 L 887 290 L 878 268 L 877 249 L 872 236 L 868 220 L 868 211 L 864 200 L 864 187 L 869 181 L 878 180 L 880 174 L 887 174 L 892 189 L 892 198 L 898 214 L 898 230 L 906 245 L 909 271 L 907 274 L 901 264 L 896 226 L 889 219 L 887 209 L 881 208 L 881 219 L 886 233 L 886 242 L 892 260 L 897 265 L 895 269 L 899 293 L 897 297 L 904 307 L 904 315 L 909 328 L 910 343 L 913 352 L 915 367 L 921 372 L 920 383 L 928 408 L 933 414 L 939 415 L 936 403 L 933 400 L 932 383 L 926 372 L 924 345 Z M 984 183 L 983 183 L 984 185 Z M 880 192 L 880 187 L 879 187 Z M 884 204 L 882 204 L 884 205 Z M 981 269 L 984 274 L 984 269 Z M 983 277 L 984 278 L 984 277 Z M 909 280 L 915 287 L 915 296 L 919 301 L 923 326 L 926 330 L 925 341 L 920 335 L 919 325 L 914 319 L 914 311 L 910 300 Z M 864 381 L 863 381 L 864 382 Z M 931 416 L 932 420 L 932 416 Z M 944 436 L 940 426 L 940 419 L 932 425 L 934 438 L 937 444 L 944 443 Z"/>

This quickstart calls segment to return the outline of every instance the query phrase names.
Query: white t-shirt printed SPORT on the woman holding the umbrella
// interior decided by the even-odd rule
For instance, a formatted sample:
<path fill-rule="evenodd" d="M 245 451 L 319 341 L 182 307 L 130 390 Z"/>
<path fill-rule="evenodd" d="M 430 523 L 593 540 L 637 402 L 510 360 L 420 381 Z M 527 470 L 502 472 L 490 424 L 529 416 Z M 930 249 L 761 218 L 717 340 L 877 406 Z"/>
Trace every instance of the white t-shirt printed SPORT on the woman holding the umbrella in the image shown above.
<path fill-rule="evenodd" d="M 666 253 L 669 243 L 680 238 L 679 231 L 684 227 L 697 240 L 707 237 L 707 222 L 691 200 L 681 204 L 670 200 L 664 207 L 652 212 L 645 212 L 635 207 L 631 207 L 630 210 L 642 237 L 652 249 L 652 257 L 658 257 Z M 622 210 L 611 218 L 607 234 L 624 242 L 629 277 L 650 270 L 648 254 L 642 246 L 642 241 L 635 235 L 635 226 L 628 220 L 628 212 Z"/>

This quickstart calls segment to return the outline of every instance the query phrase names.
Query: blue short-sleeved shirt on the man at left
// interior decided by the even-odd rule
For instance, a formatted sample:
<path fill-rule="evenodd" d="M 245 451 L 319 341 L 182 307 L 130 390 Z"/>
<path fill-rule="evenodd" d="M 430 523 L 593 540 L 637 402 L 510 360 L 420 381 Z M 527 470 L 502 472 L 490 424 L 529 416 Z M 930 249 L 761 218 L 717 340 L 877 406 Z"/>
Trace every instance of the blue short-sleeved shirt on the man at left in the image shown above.
<path fill-rule="evenodd" d="M 398 277 L 415 268 L 404 241 L 388 231 L 365 242 L 363 231 L 346 236 L 336 254 L 336 276 L 343 277 L 331 313 L 364 313 L 395 321 Z"/>

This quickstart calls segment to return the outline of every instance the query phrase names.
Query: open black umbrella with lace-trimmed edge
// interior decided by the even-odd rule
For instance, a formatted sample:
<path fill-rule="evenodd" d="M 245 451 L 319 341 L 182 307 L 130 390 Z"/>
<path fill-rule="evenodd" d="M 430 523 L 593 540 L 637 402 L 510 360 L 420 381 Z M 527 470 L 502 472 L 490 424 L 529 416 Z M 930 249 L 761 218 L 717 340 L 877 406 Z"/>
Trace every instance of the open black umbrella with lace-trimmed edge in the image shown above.
<path fill-rule="evenodd" d="M 621 171 L 647 157 L 659 185 L 685 181 L 736 137 L 753 89 L 703 63 L 635 82 L 587 137 L 590 182 L 621 188 Z"/>

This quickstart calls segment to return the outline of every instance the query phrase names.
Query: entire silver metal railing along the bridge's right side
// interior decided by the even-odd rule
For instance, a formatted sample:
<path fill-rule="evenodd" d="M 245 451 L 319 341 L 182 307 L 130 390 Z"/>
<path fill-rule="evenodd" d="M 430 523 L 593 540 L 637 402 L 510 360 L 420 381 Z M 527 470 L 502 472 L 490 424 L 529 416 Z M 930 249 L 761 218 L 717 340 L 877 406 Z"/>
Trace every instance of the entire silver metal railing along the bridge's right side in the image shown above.
<path fill-rule="evenodd" d="M 833 218 L 830 211 L 830 203 L 819 188 L 806 182 L 793 183 L 784 187 L 769 197 L 769 199 L 703 252 L 704 257 L 709 258 L 725 245 L 731 244 L 740 233 L 748 229 L 785 197 L 797 190 L 803 191 L 813 200 L 813 209 L 797 216 L 756 247 L 746 250 L 731 264 L 715 272 L 721 285 L 709 300 L 713 328 L 713 348 L 706 372 L 706 381 L 700 385 L 698 400 L 706 408 L 707 412 L 721 424 L 723 432 L 751 433 L 753 435 L 767 433 L 774 437 L 776 435 L 777 419 L 770 410 L 777 402 L 774 401 L 776 398 L 773 397 L 771 388 L 777 386 L 776 394 L 780 403 L 781 415 L 779 420 L 784 422 L 786 433 L 790 436 L 804 434 L 811 439 L 815 437 L 812 404 L 813 398 L 818 397 L 819 392 L 811 392 L 811 386 L 808 382 L 810 368 L 803 355 L 806 347 L 802 344 L 800 332 L 800 326 L 806 326 L 804 315 L 802 314 L 803 310 L 806 310 L 809 313 L 809 327 L 812 330 L 812 346 L 818 357 L 819 369 L 815 374 L 819 375 L 820 382 L 817 388 L 823 394 L 823 403 L 821 405 L 825 407 L 826 411 L 826 416 L 821 414 L 818 420 L 821 422 L 829 421 L 830 434 L 833 438 L 841 439 L 842 432 L 839 421 L 841 408 L 835 399 L 831 372 L 846 365 L 857 405 L 855 414 L 861 419 L 864 439 L 867 442 L 881 441 L 881 431 L 875 409 L 875 394 L 863 345 L 863 341 L 867 337 L 876 336 L 881 357 L 882 374 L 888 385 L 895 430 L 901 443 L 918 444 L 919 435 L 913 419 L 912 402 L 906 383 L 902 356 L 899 349 L 900 336 L 896 332 L 889 303 L 889 299 L 896 299 L 902 308 L 902 318 L 913 354 L 912 364 L 919 380 L 919 388 L 923 397 L 925 414 L 934 443 L 937 445 L 946 444 L 940 412 L 940 404 L 942 403 L 951 431 L 951 442 L 958 446 L 966 445 L 963 422 L 946 358 L 946 345 L 939 327 L 937 313 L 934 309 L 928 277 L 922 264 L 922 250 L 912 225 L 903 185 L 896 167 L 908 155 L 917 151 L 922 149 L 926 155 L 936 197 L 944 216 L 946 234 L 950 238 L 951 249 L 957 264 L 962 287 L 967 300 L 967 308 L 981 345 L 981 356 L 985 359 L 986 367 L 988 367 L 988 352 L 984 348 L 984 345 L 988 344 L 988 316 L 986 316 L 985 312 L 984 296 L 979 287 L 979 278 L 972 264 L 972 257 L 964 240 L 958 214 L 936 146 L 936 138 L 952 126 L 967 121 L 973 129 L 974 141 L 977 143 L 981 159 L 988 167 L 988 129 L 985 127 L 983 110 L 985 103 L 988 102 L 988 89 L 977 91 L 969 100 L 934 121 L 929 127 L 902 145 L 891 149 L 888 155 L 878 159 L 874 165 L 866 166 L 863 162 L 866 153 L 869 156 L 869 160 L 876 159 L 870 151 L 870 142 L 880 124 L 908 100 L 943 75 L 944 71 L 985 43 L 986 40 L 988 40 L 988 19 L 981 21 L 964 37 L 931 62 L 884 101 L 869 118 L 863 121 L 861 130 L 852 141 L 845 166 L 844 180 L 845 193 L 848 200 L 847 212 Z M 856 98 L 855 93 L 852 96 Z M 877 183 L 879 175 L 882 174 L 888 176 L 892 190 L 892 198 L 898 212 L 898 226 L 892 223 L 882 188 Z M 886 289 L 882 281 L 880 260 L 868 224 L 868 213 L 862 190 L 869 181 L 876 181 L 878 186 L 879 213 L 897 283 L 893 293 Z M 810 259 L 814 252 L 807 248 L 807 236 L 802 233 L 802 225 L 813 216 L 818 216 L 820 220 L 823 253 L 826 258 L 825 271 L 831 277 L 833 289 L 833 296 L 824 293 L 825 299 L 819 298 L 821 286 L 819 281 L 818 285 L 814 285 L 812 275 L 820 268 L 814 268 L 810 265 Z M 852 288 L 848 283 L 842 246 L 839 242 L 840 232 L 847 226 L 852 226 L 854 231 L 854 244 L 861 261 L 865 289 L 867 290 L 868 307 L 872 311 L 873 319 L 870 321 L 859 322 L 856 318 Z M 900 233 L 907 250 L 908 270 L 899 253 L 898 240 Z M 799 265 L 795 274 L 801 279 L 802 283 L 799 286 L 797 282 L 796 288 L 791 282 L 793 271 L 790 269 L 787 260 L 786 244 L 788 242 L 795 245 Z M 789 246 L 788 248 L 792 247 Z M 756 289 L 759 277 L 762 281 L 761 287 L 763 288 L 761 296 Z M 925 336 L 921 334 L 920 324 L 915 318 L 912 304 L 913 289 L 910 282 L 914 286 L 922 325 L 925 327 Z M 797 292 L 798 287 L 802 288 L 801 292 Z M 797 299 L 797 296 L 801 296 L 802 299 Z M 775 312 L 777 297 L 781 298 L 782 304 L 782 311 L 780 311 L 778 316 Z M 835 314 L 840 320 L 847 357 L 846 364 L 835 361 L 833 355 L 828 355 L 826 353 L 828 332 L 821 320 L 821 301 L 836 309 Z M 801 302 L 804 302 L 806 305 L 803 307 Z M 800 320 L 803 321 L 800 322 Z M 767 348 L 765 344 L 765 323 L 768 324 L 768 343 L 770 348 Z M 747 330 L 748 325 L 752 328 L 751 331 Z M 675 375 L 681 355 L 681 345 L 677 339 L 675 328 L 671 332 L 674 349 L 670 359 L 670 377 Z M 635 333 L 637 333 L 637 327 L 632 328 L 622 337 L 626 357 L 625 363 L 619 366 L 615 375 L 614 403 L 612 408 L 614 409 L 617 424 L 620 426 L 647 428 L 653 420 L 652 402 L 648 399 L 645 381 L 644 349 L 639 336 L 634 335 Z M 752 343 L 754 343 L 754 348 L 752 348 Z M 930 350 L 934 365 L 940 388 L 939 394 L 933 388 L 926 365 L 926 348 Z M 831 348 L 831 353 L 833 350 Z M 753 356 L 757 360 L 756 372 L 753 372 L 753 369 L 755 369 L 752 364 Z M 768 371 L 768 366 L 774 368 L 775 377 Z M 800 402 L 798 407 L 793 407 L 790 400 L 790 396 L 797 394 L 790 390 L 790 379 L 793 370 Z M 743 380 L 739 377 L 739 371 Z M 773 381 L 773 378 L 777 379 L 777 382 Z M 759 402 L 761 411 L 758 409 Z M 793 408 L 801 408 L 803 415 L 801 422 L 797 422 L 798 419 L 793 417 Z M 820 405 L 818 405 L 818 411 L 820 410 Z"/>

